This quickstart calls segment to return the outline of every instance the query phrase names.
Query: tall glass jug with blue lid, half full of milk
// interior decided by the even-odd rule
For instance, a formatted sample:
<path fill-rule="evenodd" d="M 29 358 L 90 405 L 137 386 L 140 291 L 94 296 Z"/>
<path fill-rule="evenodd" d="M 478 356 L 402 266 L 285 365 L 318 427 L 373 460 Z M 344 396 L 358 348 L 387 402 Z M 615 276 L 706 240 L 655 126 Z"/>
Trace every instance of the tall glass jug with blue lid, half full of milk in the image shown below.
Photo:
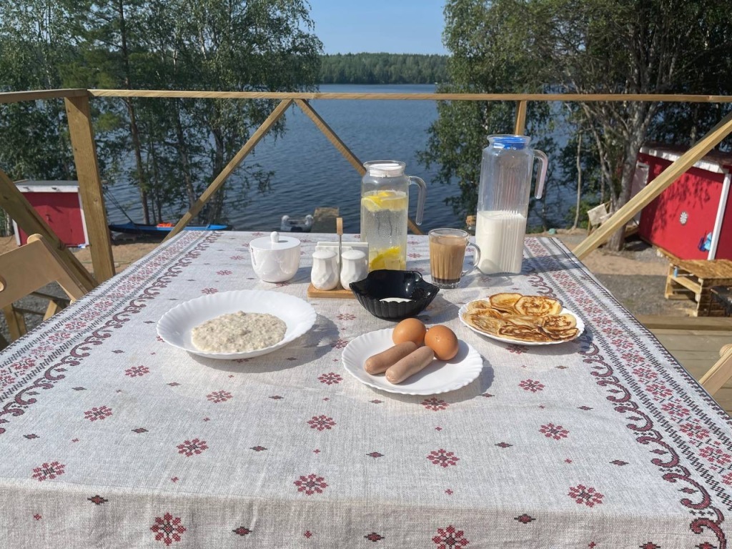
<path fill-rule="evenodd" d="M 548 165 L 546 154 L 529 149 L 529 141 L 526 135 L 490 135 L 483 149 L 475 243 L 480 248 L 478 269 L 486 275 L 521 272 L 534 160 L 541 163 L 537 198 L 542 197 Z"/>

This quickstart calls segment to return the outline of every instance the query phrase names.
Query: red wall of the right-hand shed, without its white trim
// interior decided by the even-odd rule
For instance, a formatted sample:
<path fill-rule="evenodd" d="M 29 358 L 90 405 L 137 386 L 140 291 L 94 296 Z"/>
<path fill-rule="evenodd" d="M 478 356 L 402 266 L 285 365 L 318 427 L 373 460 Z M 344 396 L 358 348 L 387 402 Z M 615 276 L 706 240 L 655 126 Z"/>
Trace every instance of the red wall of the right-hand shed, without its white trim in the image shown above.
<path fill-rule="evenodd" d="M 638 161 L 649 165 L 649 182 L 671 165 L 670 160 L 643 153 Z M 681 259 L 706 259 L 709 253 L 698 246 L 714 231 L 723 180 L 723 173 L 691 168 L 643 208 L 641 237 Z M 686 223 L 682 223 L 684 212 Z M 723 257 L 717 253 L 717 258 Z"/>

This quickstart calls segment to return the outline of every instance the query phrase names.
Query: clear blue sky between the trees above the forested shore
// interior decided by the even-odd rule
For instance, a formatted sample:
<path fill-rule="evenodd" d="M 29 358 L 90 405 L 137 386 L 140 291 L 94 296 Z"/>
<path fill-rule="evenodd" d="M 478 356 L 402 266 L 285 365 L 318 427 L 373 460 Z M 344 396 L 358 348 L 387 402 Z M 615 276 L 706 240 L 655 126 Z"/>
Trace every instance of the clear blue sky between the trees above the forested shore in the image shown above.
<path fill-rule="evenodd" d="M 441 53 L 444 0 L 310 0 L 324 53 Z"/>

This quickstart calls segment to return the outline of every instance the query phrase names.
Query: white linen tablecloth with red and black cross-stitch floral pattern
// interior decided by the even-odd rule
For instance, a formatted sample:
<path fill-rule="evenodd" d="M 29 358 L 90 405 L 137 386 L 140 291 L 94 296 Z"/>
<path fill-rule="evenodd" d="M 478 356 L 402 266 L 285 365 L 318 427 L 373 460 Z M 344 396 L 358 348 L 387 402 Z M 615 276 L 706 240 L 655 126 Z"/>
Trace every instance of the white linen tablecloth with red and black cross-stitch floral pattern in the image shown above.
<path fill-rule="evenodd" d="M 394 323 L 355 299 L 256 279 L 261 234 L 185 232 L 0 354 L 0 547 L 721 548 L 732 422 L 559 242 L 521 275 L 468 275 L 419 318 L 483 357 L 454 392 L 394 395 L 343 369 Z M 347 238 L 348 239 L 348 238 Z M 408 268 L 429 280 L 425 236 Z M 171 307 L 274 289 L 318 313 L 305 336 L 236 362 L 157 337 Z M 586 331 L 498 343 L 460 324 L 498 291 L 547 294 Z"/>

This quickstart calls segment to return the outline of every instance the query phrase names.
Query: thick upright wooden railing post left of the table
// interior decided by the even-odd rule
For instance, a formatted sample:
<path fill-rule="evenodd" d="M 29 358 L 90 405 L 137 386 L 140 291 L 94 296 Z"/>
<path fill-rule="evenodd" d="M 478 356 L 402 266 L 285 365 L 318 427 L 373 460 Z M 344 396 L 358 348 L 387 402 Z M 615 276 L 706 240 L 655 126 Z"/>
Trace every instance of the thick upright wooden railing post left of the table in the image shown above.
<path fill-rule="evenodd" d="M 64 103 L 69 119 L 76 175 L 81 190 L 81 206 L 89 234 L 91 264 L 94 266 L 94 277 L 102 282 L 114 276 L 114 258 L 107 226 L 107 212 L 104 207 L 102 180 L 97 164 L 97 147 L 94 144 L 94 130 L 91 127 L 89 96 L 66 97 Z"/>

